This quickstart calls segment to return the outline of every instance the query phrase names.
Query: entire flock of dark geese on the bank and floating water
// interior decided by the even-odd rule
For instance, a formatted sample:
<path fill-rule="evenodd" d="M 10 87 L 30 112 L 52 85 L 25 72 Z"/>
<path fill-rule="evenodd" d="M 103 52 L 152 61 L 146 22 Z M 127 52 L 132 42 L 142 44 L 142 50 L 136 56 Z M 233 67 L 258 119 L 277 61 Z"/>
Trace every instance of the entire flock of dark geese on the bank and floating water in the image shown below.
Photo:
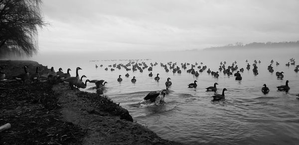
<path fill-rule="evenodd" d="M 291 61 L 291 65 L 295 65 L 295 59 L 290 59 Z M 250 65 L 248 63 L 248 60 L 246 60 L 246 63 L 247 63 L 247 67 L 246 69 L 249 70 L 250 69 Z M 258 74 L 258 67 L 256 66 L 257 63 L 261 63 L 261 61 L 257 62 L 256 60 L 254 61 L 254 64 L 253 64 L 253 72 L 255 75 Z M 272 67 L 272 64 L 274 63 L 274 61 L 272 60 L 271 61 L 271 64 L 270 66 L 268 66 L 268 70 L 269 72 L 274 72 L 273 70 L 273 67 Z M 203 63 L 200 63 L 201 65 Z M 242 80 L 242 76 L 239 72 L 243 72 L 244 69 L 241 68 L 240 70 L 238 70 L 238 66 L 236 65 L 237 62 L 235 61 L 234 63 L 232 63 L 231 66 L 228 66 L 227 68 L 225 67 L 225 64 L 226 62 L 224 61 L 223 63 L 221 62 L 220 63 L 220 66 L 219 66 L 219 71 L 222 71 L 227 74 L 227 75 L 232 75 L 233 71 L 237 71 L 236 73 L 234 73 L 234 76 L 236 80 Z M 150 63 L 150 67 L 145 63 L 145 62 L 142 62 L 142 63 L 135 63 L 134 61 L 129 61 L 128 64 L 124 65 L 124 64 L 113 64 L 113 65 L 109 65 L 108 67 L 113 67 L 113 68 L 118 68 L 118 69 L 121 69 L 122 67 L 125 68 L 127 71 L 137 71 L 139 70 L 140 72 L 143 72 L 143 70 L 147 69 L 148 68 L 148 71 L 152 71 L 152 67 L 153 66 L 156 66 L 157 63 L 155 62 L 154 64 Z M 187 66 L 189 66 L 190 64 L 189 63 L 181 63 L 181 69 L 184 69 L 186 70 Z M 195 65 L 191 65 L 191 69 L 187 70 L 186 72 L 188 73 L 191 73 L 191 74 L 194 74 L 195 76 L 198 76 L 199 73 L 198 72 L 203 72 L 204 70 L 207 69 L 206 66 L 203 66 L 201 67 L 200 65 L 197 66 L 197 62 L 195 63 Z M 278 66 L 279 63 L 276 62 L 276 65 Z M 160 66 L 163 67 L 165 69 L 165 72 L 169 72 L 169 69 L 171 70 L 172 69 L 172 72 L 173 73 L 181 73 L 181 70 L 180 70 L 180 67 L 177 66 L 176 63 L 172 63 L 172 62 L 168 62 L 167 65 L 164 65 L 162 63 L 160 63 Z M 199 69 L 199 71 L 195 71 L 193 68 L 195 68 L 197 66 L 197 68 Z M 286 66 L 290 66 L 290 62 L 288 64 L 286 64 Z M 100 65 L 100 67 L 103 67 L 103 65 Z M 169 69 L 168 69 L 169 67 Z M 81 77 L 79 76 L 79 73 L 78 71 L 79 70 L 82 70 L 80 67 L 77 67 L 76 68 L 76 76 L 71 76 L 69 71 L 71 71 L 71 69 L 68 69 L 67 70 L 67 73 L 64 73 L 62 72 L 62 68 L 59 68 L 58 72 L 55 72 L 54 71 L 54 68 L 52 67 L 50 72 L 48 72 L 47 74 L 42 74 L 40 75 L 39 72 L 38 72 L 38 69 L 40 69 L 39 67 L 36 67 L 36 72 L 33 73 L 33 74 L 29 74 L 29 72 L 27 71 L 27 68 L 28 66 L 24 66 L 24 73 L 21 73 L 17 76 L 14 76 L 15 79 L 17 80 L 20 80 L 23 82 L 23 84 L 27 81 L 39 81 L 40 80 L 40 77 L 41 76 L 44 76 L 44 77 L 47 77 L 48 81 L 52 81 L 52 82 L 68 82 L 71 89 L 74 89 L 74 88 L 86 88 L 87 86 L 87 82 L 90 82 L 90 83 L 95 83 L 96 87 L 92 87 L 92 89 L 102 89 L 106 83 L 105 80 L 97 80 L 97 79 L 94 79 L 94 80 L 89 80 L 89 79 L 86 79 L 85 82 L 82 80 L 83 77 L 86 77 L 85 75 L 82 75 Z M 98 68 L 98 66 L 96 65 L 96 68 Z M 111 68 L 110 70 L 111 71 L 114 71 L 115 69 Z M 299 71 L 299 65 L 296 66 L 295 68 L 295 72 L 298 72 Z M 108 68 L 105 69 L 106 71 L 108 70 Z M 231 72 L 232 71 L 232 72 Z M 210 69 L 207 70 L 207 73 L 210 73 L 212 74 L 214 77 L 218 77 L 219 74 L 218 74 L 218 71 L 217 72 L 213 72 L 211 71 Z M 278 78 L 283 78 L 284 75 L 283 75 L 284 72 L 276 72 L 276 75 Z M 149 73 L 149 77 L 152 77 L 152 72 Z M 159 73 L 156 74 L 156 76 L 154 77 L 154 80 L 157 80 L 159 81 Z M 117 81 L 121 82 L 123 79 L 121 77 L 122 75 L 119 75 L 119 77 L 117 78 Z M 130 74 L 127 73 L 125 74 L 126 77 L 129 77 Z M 0 72 L 0 80 L 3 80 L 5 78 L 5 74 L 3 72 Z M 170 77 L 167 78 L 167 81 L 165 82 L 165 86 L 166 86 L 166 89 L 162 89 L 160 91 L 151 91 L 149 92 L 149 94 L 144 97 L 145 100 L 150 100 L 150 102 L 155 102 L 156 98 L 161 94 L 163 97 L 165 96 L 165 94 L 168 94 L 169 93 L 169 87 L 172 85 L 172 82 L 170 81 Z M 131 79 L 131 81 L 133 83 L 135 83 L 137 80 L 136 80 L 136 77 L 133 76 L 133 78 Z M 197 80 L 194 80 L 193 83 L 190 83 L 188 84 L 188 87 L 189 88 L 196 88 L 197 87 L 197 84 L 196 84 Z M 285 85 L 281 85 L 281 86 L 277 86 L 278 90 L 280 91 L 286 91 L 288 92 L 289 89 L 290 89 L 290 86 L 289 86 L 289 80 L 286 81 L 286 84 Z M 207 91 L 215 91 L 217 90 L 217 87 L 216 85 L 218 85 L 218 83 L 214 83 L 214 86 L 210 86 L 210 87 L 207 87 L 206 90 Z M 223 88 L 222 90 L 222 94 L 215 94 L 213 95 L 213 100 L 214 101 L 217 101 L 217 100 L 222 100 L 222 99 L 225 99 L 225 94 L 224 94 L 224 91 L 226 91 L 227 89 L 226 88 Z M 264 94 L 267 94 L 270 89 L 267 87 L 266 84 L 263 85 L 262 87 L 262 92 Z M 298 95 L 299 96 L 299 95 Z"/>

